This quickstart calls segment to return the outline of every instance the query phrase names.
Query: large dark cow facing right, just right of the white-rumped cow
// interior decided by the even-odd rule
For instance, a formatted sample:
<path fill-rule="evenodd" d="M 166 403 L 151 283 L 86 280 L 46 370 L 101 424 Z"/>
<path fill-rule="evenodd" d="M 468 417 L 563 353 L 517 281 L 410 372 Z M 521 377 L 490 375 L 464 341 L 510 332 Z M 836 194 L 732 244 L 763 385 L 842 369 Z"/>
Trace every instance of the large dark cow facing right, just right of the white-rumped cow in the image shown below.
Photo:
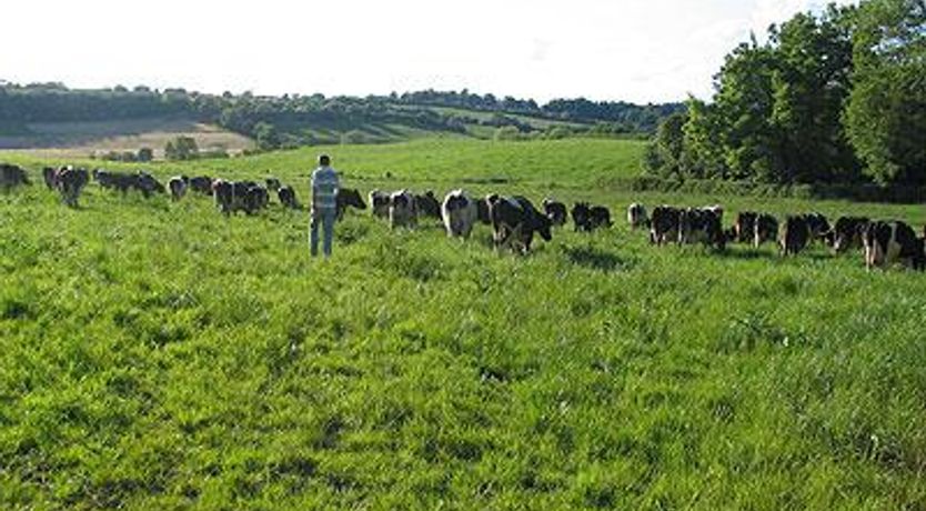
<path fill-rule="evenodd" d="M 550 218 L 537 211 L 527 199 L 492 194 L 489 196 L 487 201 L 495 249 L 505 244 L 514 248 L 517 243 L 521 246 L 520 251 L 526 254 L 531 251 L 534 232 L 546 241 L 553 239 L 550 232 L 552 227 Z"/>

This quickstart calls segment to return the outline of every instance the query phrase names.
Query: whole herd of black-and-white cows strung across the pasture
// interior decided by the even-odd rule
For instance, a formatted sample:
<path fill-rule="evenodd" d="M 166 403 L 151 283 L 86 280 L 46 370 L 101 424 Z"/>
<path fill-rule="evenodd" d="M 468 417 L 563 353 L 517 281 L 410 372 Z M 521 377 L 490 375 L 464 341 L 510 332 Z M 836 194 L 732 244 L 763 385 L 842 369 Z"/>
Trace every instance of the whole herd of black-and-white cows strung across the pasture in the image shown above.
<path fill-rule="evenodd" d="M 58 190 L 62 201 L 71 207 L 78 206 L 81 190 L 92 178 L 104 189 L 122 193 L 137 190 L 144 197 L 169 192 L 174 201 L 181 200 L 189 190 L 212 197 L 218 209 L 227 216 L 236 211 L 252 214 L 266 208 L 271 193 L 276 194 L 283 207 L 302 208 L 293 187 L 284 186 L 275 178 L 268 178 L 263 183 L 258 183 L 213 179 L 208 176 L 178 176 L 171 178 L 164 187 L 144 171 L 130 173 L 97 169 L 89 172 L 87 169 L 68 166 L 58 169 L 47 167 L 42 174 L 48 188 Z M 24 169 L 0 163 L 0 189 L 8 190 L 29 183 Z M 612 226 L 611 212 L 603 206 L 577 202 L 567 210 L 563 202 L 548 198 L 543 200 L 540 209 L 521 196 L 503 197 L 492 193 L 483 198 L 473 198 L 463 190 L 449 192 L 443 201 L 432 191 L 416 194 L 409 190 L 373 190 L 369 193 L 368 200 L 373 216 L 387 220 L 392 228 L 414 228 L 419 219 L 435 219 L 443 222 L 447 236 L 469 238 L 473 227 L 483 223 L 492 227 L 492 239 L 496 248 L 510 247 L 523 253 L 531 250 L 534 234 L 550 241 L 552 228 L 564 226 L 570 217 L 576 231 L 591 232 Z M 346 208 L 366 209 L 360 191 L 339 191 L 339 219 Z M 646 208 L 640 203 L 633 203 L 627 208 L 627 222 L 631 228 L 648 229 L 650 242 L 656 246 L 702 243 L 716 250 L 725 250 L 729 243 L 748 243 L 758 248 L 766 242 L 776 242 L 782 255 L 794 255 L 817 242 L 828 246 L 837 253 L 850 249 L 864 250 L 868 269 L 884 268 L 895 262 L 916 270 L 926 269 L 924 237 L 917 236 L 913 228 L 902 221 L 841 217 L 831 226 L 821 213 L 805 213 L 789 214 L 779 223 L 777 218 L 768 213 L 742 211 L 736 216 L 733 226 L 725 229 L 723 216 L 724 210 L 719 206 L 658 206 L 653 209 L 652 214 L 647 214 Z"/>

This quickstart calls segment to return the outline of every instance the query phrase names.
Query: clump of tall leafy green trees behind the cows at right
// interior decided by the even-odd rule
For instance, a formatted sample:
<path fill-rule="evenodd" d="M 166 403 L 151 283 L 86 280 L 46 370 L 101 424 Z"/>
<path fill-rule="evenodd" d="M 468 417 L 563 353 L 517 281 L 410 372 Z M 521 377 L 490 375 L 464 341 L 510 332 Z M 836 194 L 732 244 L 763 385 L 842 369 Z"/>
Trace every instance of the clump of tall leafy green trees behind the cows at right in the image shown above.
<path fill-rule="evenodd" d="M 684 180 L 926 184 L 926 3 L 799 13 L 736 47 L 645 158 Z"/>

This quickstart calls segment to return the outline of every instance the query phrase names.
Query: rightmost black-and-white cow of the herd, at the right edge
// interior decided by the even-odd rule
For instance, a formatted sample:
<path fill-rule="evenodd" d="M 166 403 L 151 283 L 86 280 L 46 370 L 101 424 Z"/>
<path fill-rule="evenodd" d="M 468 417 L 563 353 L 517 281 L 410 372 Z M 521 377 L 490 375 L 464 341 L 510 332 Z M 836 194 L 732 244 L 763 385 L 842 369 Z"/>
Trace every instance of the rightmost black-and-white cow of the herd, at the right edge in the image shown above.
<path fill-rule="evenodd" d="M 895 262 L 913 267 L 914 270 L 926 268 L 923 238 L 904 222 L 868 222 L 863 228 L 865 246 L 865 268 L 887 268 Z"/>

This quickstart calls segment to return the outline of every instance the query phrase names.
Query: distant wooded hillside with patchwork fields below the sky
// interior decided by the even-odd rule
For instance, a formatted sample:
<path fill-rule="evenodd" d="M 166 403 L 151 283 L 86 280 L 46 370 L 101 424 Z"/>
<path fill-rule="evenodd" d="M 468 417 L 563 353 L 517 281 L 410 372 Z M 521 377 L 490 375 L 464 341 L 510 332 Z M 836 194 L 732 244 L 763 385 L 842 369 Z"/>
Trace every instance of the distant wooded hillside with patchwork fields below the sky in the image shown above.
<path fill-rule="evenodd" d="M 496 99 L 467 91 L 385 97 L 203 94 L 183 89 L 77 90 L 58 83 L 0 87 L 0 148 L 160 150 L 165 134 L 234 152 L 331 143 L 381 143 L 435 133 L 473 138 L 638 137 L 681 104 L 586 99 Z M 178 121 L 179 120 L 179 121 Z M 184 126 L 162 126 L 180 122 Z M 232 136 L 236 133 L 236 136 Z"/>

